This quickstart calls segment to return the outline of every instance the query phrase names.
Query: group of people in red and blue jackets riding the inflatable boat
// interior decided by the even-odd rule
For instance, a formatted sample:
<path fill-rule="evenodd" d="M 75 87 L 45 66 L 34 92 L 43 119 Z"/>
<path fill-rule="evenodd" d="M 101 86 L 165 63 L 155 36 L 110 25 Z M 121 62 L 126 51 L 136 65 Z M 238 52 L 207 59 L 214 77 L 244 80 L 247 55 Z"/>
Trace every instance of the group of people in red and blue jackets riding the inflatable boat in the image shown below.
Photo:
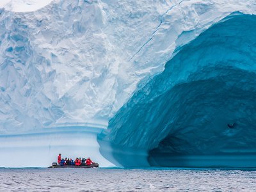
<path fill-rule="evenodd" d="M 58 156 L 58 164 L 60 166 L 65 166 L 65 165 L 75 165 L 75 166 L 84 166 L 84 165 L 90 165 L 93 164 L 92 160 L 90 159 L 90 157 L 88 157 L 87 159 L 85 158 L 81 158 L 81 157 L 76 157 L 75 161 L 71 158 L 61 158 L 61 154 L 59 154 Z"/>

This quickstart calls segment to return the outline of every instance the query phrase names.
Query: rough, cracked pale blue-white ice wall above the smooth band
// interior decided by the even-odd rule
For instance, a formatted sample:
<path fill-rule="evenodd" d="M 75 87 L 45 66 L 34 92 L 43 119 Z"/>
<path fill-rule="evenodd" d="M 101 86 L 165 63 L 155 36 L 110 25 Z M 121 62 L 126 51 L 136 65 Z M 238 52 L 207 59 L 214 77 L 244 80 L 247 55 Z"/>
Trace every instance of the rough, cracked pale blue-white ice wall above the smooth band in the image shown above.
<path fill-rule="evenodd" d="M 108 125 L 175 48 L 231 12 L 253 13 L 252 1 L 50 2 L 1 1 L 0 132 Z"/>

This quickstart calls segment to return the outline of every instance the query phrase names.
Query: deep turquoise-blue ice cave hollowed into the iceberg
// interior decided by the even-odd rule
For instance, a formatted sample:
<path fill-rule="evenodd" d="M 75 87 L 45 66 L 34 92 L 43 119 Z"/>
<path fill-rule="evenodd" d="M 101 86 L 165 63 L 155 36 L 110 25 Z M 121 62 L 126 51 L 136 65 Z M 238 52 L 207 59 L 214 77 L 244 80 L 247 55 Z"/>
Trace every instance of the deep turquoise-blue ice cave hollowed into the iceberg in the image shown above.
<path fill-rule="evenodd" d="M 123 166 L 256 166 L 255 28 L 255 15 L 230 15 L 182 47 L 98 136 L 102 154 Z"/>

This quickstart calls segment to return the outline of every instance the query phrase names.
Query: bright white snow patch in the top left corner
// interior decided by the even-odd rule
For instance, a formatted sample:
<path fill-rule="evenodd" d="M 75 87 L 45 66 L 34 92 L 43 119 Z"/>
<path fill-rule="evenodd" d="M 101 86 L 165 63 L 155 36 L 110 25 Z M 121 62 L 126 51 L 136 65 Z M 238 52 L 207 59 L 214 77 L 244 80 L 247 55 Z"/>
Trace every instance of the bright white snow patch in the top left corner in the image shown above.
<path fill-rule="evenodd" d="M 52 0 L 1 0 L 0 8 L 12 12 L 35 12 L 51 2 Z"/>

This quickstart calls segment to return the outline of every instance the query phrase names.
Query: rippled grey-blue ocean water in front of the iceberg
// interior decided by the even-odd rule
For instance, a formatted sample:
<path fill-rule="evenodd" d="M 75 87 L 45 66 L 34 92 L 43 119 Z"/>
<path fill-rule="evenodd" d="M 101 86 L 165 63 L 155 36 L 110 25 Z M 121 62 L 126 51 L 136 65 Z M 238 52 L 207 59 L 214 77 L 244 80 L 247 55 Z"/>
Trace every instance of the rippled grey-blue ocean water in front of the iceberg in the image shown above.
<path fill-rule="evenodd" d="M 0 191 L 256 191 L 256 170 L 0 168 Z"/>

